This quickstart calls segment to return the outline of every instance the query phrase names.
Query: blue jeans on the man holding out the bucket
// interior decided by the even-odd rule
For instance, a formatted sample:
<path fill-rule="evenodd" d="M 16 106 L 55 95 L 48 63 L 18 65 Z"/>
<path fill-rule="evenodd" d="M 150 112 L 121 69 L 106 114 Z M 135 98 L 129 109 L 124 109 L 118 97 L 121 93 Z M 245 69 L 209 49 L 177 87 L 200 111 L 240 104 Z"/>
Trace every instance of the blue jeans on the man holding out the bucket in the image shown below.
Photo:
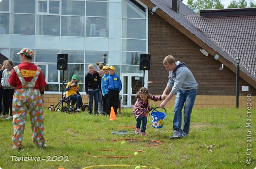
<path fill-rule="evenodd" d="M 179 90 L 176 96 L 174 105 L 174 117 L 173 117 L 173 130 L 177 130 L 181 133 L 189 133 L 190 131 L 190 118 L 194 100 L 196 97 L 197 89 L 181 91 Z M 184 105 L 185 104 L 185 105 Z M 184 106 L 184 125 L 181 130 L 182 109 Z"/>

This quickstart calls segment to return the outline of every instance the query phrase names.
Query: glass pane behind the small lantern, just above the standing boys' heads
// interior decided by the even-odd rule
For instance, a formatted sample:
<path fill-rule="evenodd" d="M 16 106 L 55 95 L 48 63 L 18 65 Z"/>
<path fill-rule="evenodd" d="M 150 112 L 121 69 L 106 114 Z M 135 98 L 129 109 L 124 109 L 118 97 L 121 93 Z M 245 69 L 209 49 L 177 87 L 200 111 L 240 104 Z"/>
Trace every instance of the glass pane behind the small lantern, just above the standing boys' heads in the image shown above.
<path fill-rule="evenodd" d="M 102 55 L 104 53 L 108 55 L 107 51 L 85 51 L 85 63 L 95 64 L 97 62 L 103 62 Z"/>

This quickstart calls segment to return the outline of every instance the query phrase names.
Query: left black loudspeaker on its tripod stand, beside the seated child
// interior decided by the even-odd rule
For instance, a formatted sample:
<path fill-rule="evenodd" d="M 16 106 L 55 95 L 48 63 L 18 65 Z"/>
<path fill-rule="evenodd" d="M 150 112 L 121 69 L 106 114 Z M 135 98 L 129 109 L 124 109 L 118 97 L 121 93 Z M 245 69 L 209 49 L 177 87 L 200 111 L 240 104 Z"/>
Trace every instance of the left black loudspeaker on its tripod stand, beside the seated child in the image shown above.
<path fill-rule="evenodd" d="M 60 102 L 57 104 L 58 108 L 56 109 L 56 111 L 59 109 L 60 105 L 62 104 L 62 108 L 63 108 L 63 102 L 64 101 L 64 83 L 65 83 L 65 78 L 64 78 L 64 71 L 67 70 L 67 54 L 64 53 L 58 53 L 58 58 L 57 58 L 57 69 L 59 71 L 63 71 L 63 83 L 62 83 L 62 99 L 60 100 Z M 56 106 L 57 107 L 57 106 Z"/>

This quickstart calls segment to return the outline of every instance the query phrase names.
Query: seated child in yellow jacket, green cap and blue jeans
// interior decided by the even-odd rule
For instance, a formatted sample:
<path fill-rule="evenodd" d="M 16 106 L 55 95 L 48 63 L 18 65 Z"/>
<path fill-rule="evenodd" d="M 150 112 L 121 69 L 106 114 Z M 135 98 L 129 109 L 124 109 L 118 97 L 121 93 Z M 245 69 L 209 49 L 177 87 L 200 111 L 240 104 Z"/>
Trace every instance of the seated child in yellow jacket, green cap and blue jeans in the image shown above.
<path fill-rule="evenodd" d="M 79 84 L 77 83 L 77 75 L 73 75 L 70 82 L 66 85 L 66 98 L 76 101 L 76 110 L 80 111 L 82 105 L 82 97 L 79 94 Z"/>

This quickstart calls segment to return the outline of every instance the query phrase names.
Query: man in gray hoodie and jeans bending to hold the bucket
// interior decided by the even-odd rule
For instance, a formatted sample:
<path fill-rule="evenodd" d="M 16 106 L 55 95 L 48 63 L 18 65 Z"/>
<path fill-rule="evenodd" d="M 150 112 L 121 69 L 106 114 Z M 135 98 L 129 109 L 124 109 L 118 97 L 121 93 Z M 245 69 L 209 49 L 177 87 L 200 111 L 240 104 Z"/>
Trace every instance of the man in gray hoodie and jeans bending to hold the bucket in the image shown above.
<path fill-rule="evenodd" d="M 160 104 L 164 108 L 166 103 L 176 95 L 174 105 L 173 130 L 174 134 L 170 139 L 188 136 L 190 130 L 190 118 L 197 93 L 197 83 L 192 72 L 185 66 L 185 63 L 176 62 L 172 55 L 163 60 L 163 65 L 169 71 L 169 80 L 161 98 L 164 101 Z M 167 93 L 170 92 L 168 97 Z M 181 129 L 182 109 L 184 107 L 184 125 Z"/>

